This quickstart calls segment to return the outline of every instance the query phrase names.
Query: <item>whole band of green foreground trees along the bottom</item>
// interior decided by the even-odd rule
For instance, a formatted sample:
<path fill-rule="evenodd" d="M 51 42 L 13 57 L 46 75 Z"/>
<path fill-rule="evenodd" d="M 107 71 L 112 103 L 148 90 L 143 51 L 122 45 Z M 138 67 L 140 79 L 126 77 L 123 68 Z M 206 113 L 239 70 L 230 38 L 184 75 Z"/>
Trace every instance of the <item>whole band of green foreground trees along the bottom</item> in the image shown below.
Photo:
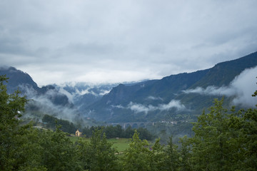
<path fill-rule="evenodd" d="M 135 132 L 119 153 L 103 129 L 90 141 L 73 143 L 59 127 L 19 124 L 26 98 L 7 94 L 4 81 L 0 76 L 0 170 L 257 170 L 256 109 L 227 110 L 215 100 L 193 123 L 193 137 L 181 138 L 178 146 L 172 138 L 166 146 L 159 139 L 149 145 Z"/>

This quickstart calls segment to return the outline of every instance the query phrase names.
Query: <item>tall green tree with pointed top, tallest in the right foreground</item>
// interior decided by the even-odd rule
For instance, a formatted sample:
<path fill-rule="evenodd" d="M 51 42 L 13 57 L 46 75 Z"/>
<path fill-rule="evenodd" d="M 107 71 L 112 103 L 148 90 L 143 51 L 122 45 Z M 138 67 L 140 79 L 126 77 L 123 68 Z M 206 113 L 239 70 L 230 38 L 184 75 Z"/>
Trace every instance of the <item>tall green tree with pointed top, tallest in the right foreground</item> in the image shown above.
<path fill-rule="evenodd" d="M 193 123 L 194 137 L 191 138 L 192 161 L 195 170 L 229 170 L 233 163 L 229 138 L 227 110 L 222 100 L 214 100 L 210 113 L 198 117 Z"/>

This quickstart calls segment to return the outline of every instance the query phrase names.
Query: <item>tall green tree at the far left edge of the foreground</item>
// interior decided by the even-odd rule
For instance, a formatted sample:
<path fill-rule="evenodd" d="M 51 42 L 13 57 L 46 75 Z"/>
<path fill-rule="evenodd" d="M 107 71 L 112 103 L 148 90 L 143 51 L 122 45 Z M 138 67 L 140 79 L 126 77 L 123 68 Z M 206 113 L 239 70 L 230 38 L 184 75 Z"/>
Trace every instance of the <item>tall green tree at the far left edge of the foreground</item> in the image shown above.
<path fill-rule="evenodd" d="M 0 170 L 45 170 L 40 166 L 38 146 L 30 141 L 34 137 L 31 125 L 19 124 L 27 99 L 19 90 L 8 94 L 7 80 L 0 76 Z"/>

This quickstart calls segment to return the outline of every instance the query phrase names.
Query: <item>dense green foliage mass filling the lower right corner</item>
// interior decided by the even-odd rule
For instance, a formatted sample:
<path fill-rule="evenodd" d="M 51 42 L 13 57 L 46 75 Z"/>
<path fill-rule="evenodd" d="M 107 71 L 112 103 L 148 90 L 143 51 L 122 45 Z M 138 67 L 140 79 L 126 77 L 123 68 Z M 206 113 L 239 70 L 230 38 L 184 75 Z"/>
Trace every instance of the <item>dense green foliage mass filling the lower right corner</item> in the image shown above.
<path fill-rule="evenodd" d="M 256 170 L 257 110 L 234 108 L 228 113 L 223 100 L 215 100 L 210 113 L 193 123 L 191 165 L 193 170 Z"/>

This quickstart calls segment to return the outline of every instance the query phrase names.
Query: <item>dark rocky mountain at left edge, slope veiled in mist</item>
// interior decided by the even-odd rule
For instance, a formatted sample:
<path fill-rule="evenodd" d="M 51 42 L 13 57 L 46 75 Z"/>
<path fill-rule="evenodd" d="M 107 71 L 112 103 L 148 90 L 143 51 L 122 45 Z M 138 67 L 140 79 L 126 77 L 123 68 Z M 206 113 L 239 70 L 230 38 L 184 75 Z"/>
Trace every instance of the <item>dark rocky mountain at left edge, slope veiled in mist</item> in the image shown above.
<path fill-rule="evenodd" d="M 28 73 L 14 67 L 1 67 L 0 75 L 6 75 L 9 78 L 8 83 L 5 83 L 8 93 L 14 93 L 19 89 L 21 94 L 29 99 L 24 118 L 41 120 L 45 114 L 71 121 L 81 118 L 79 110 L 55 86 L 39 88 Z"/>

